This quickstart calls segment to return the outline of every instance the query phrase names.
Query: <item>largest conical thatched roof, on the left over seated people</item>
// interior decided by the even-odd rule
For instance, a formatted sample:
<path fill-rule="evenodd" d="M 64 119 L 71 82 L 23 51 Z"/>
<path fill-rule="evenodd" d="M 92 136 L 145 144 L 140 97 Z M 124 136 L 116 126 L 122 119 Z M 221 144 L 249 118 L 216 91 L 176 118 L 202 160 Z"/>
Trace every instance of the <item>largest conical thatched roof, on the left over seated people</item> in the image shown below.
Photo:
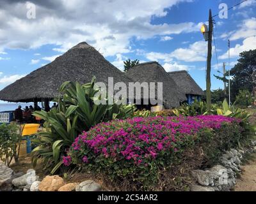
<path fill-rule="evenodd" d="M 97 82 L 108 85 L 108 77 L 114 82 L 131 81 L 122 71 L 113 66 L 92 46 L 79 43 L 65 54 L 57 57 L 50 64 L 36 69 L 26 77 L 0 91 L 0 99 L 13 102 L 29 102 L 33 99 L 54 98 L 58 96 L 58 88 L 65 81 L 91 82 L 95 76 Z"/>

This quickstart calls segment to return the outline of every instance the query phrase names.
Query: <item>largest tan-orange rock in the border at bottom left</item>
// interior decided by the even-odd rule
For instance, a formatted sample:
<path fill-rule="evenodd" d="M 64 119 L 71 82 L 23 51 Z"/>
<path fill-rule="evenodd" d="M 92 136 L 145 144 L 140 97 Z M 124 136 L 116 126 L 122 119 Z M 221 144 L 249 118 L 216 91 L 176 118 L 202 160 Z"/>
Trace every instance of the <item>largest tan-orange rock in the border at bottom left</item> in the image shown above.
<path fill-rule="evenodd" d="M 58 191 L 64 185 L 64 180 L 58 175 L 46 176 L 39 184 L 39 191 Z"/>

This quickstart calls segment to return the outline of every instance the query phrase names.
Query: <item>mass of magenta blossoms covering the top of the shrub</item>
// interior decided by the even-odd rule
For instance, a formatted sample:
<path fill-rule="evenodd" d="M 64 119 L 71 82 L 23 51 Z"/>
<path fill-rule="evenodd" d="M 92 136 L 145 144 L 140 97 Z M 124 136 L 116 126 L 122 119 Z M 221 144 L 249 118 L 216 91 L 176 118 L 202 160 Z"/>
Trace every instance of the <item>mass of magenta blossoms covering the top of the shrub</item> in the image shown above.
<path fill-rule="evenodd" d="M 119 161 L 126 159 L 136 165 L 147 166 L 164 152 L 179 152 L 179 144 L 185 137 L 191 138 L 202 129 L 219 129 L 225 123 L 241 122 L 221 115 L 195 117 L 136 117 L 127 120 L 102 122 L 79 135 L 70 148 L 70 155 L 79 155 L 87 149 L 94 156 Z M 89 155 L 80 156 L 88 163 Z M 71 157 L 63 157 L 67 166 Z"/>

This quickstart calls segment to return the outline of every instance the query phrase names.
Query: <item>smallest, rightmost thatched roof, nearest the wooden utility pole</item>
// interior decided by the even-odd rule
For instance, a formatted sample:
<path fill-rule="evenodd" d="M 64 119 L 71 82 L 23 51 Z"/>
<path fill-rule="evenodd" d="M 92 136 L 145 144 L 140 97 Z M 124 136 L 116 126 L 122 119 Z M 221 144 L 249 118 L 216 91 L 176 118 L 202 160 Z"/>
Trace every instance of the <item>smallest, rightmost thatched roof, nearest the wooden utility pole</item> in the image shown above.
<path fill-rule="evenodd" d="M 188 71 L 172 71 L 168 72 L 168 74 L 185 94 L 204 95 L 204 91 L 196 84 Z"/>

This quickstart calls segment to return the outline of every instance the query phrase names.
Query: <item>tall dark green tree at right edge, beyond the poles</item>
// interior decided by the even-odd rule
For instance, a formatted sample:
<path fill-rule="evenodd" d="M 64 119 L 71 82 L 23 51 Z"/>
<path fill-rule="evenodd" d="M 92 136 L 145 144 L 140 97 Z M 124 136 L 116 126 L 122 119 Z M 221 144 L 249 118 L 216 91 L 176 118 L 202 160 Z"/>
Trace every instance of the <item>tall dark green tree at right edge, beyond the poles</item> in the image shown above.
<path fill-rule="evenodd" d="M 248 90 L 249 92 L 253 90 L 252 74 L 256 69 L 256 50 L 241 52 L 239 56 L 237 64 L 234 68 L 230 69 L 230 76 L 232 77 L 232 80 L 230 80 L 231 101 L 236 99 L 239 90 Z M 228 82 L 228 72 L 225 73 L 224 77 L 216 75 L 214 77 L 223 82 Z"/>

